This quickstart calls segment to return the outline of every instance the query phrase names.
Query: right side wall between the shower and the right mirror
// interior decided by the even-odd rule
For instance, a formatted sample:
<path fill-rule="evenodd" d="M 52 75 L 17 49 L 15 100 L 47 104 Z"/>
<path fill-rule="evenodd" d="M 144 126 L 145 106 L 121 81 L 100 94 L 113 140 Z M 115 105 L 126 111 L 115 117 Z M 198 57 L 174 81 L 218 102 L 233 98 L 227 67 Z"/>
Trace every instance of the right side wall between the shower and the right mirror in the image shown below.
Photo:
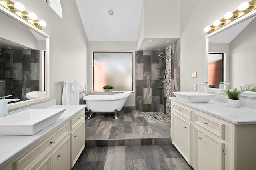
<path fill-rule="evenodd" d="M 181 91 L 193 91 L 194 83 L 205 81 L 204 27 L 235 11 L 242 0 L 180 0 Z M 192 78 L 197 72 L 197 78 Z M 198 91 L 204 87 L 198 86 Z"/>

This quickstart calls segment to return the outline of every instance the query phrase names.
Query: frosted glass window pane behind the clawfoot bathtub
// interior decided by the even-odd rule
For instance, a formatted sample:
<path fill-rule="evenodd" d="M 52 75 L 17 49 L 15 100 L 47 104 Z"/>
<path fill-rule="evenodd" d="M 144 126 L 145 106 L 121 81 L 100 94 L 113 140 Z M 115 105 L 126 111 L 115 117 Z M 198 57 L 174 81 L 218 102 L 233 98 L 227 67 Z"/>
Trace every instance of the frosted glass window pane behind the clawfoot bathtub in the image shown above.
<path fill-rule="evenodd" d="M 104 91 L 104 85 L 132 91 L 132 52 L 94 52 L 93 57 L 94 91 Z"/>

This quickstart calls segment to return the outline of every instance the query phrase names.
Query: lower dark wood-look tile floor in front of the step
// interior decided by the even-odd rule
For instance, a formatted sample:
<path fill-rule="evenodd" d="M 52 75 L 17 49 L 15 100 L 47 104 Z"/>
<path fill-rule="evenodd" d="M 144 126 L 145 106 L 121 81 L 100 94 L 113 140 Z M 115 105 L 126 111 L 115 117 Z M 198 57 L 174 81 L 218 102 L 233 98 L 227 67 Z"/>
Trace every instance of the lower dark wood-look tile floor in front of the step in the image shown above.
<path fill-rule="evenodd" d="M 84 148 L 72 170 L 193 170 L 171 145 Z"/>

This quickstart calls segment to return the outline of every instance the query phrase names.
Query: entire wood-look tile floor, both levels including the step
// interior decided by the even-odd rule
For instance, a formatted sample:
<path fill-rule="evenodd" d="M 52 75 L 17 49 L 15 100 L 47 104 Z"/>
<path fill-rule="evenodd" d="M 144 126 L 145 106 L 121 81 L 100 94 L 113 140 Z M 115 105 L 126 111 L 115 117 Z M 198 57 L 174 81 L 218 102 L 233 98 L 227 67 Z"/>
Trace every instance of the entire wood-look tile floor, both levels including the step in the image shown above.
<path fill-rule="evenodd" d="M 150 113 L 147 113 L 150 114 Z M 86 148 L 72 170 L 191 170 L 170 140 L 170 120 L 140 111 L 86 114 Z M 156 115 L 154 115 L 156 117 Z"/>

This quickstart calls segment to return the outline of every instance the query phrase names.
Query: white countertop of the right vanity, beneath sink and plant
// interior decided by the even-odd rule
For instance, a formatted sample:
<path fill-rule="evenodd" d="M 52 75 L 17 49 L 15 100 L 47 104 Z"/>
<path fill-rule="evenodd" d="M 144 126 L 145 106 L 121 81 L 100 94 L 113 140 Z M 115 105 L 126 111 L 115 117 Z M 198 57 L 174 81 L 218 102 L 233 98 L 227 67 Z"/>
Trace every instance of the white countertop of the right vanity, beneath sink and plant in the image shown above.
<path fill-rule="evenodd" d="M 208 103 L 188 103 L 177 97 L 169 97 L 172 101 L 187 105 L 209 115 L 224 119 L 236 125 L 256 124 L 256 109 L 247 107 L 229 107 L 228 103 L 211 100 Z M 256 103 L 256 102 L 255 102 Z"/>

